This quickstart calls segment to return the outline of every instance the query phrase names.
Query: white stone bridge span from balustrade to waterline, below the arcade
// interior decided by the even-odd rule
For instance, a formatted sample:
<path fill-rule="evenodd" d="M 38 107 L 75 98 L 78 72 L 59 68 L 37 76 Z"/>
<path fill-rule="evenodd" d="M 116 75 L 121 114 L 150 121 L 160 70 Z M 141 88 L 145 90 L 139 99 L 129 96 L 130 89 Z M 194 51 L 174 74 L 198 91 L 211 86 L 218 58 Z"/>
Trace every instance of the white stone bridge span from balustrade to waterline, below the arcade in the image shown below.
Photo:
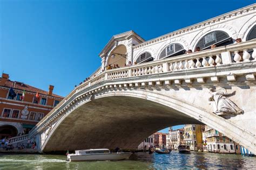
<path fill-rule="evenodd" d="M 105 70 L 76 87 L 29 138 L 41 152 L 134 149 L 168 126 L 206 124 L 256 153 L 255 57 L 250 40 Z M 218 112 L 214 91 L 242 112 Z"/>

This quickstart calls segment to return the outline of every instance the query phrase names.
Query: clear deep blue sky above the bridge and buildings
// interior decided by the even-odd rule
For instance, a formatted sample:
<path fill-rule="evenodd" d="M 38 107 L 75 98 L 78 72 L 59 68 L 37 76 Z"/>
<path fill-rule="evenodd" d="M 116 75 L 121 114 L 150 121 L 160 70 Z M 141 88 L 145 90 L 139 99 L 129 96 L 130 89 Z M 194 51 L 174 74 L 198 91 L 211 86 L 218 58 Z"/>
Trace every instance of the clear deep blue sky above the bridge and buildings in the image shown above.
<path fill-rule="evenodd" d="M 1 0 L 0 71 L 66 96 L 100 66 L 98 54 L 113 35 L 133 30 L 149 40 L 252 3 Z"/>

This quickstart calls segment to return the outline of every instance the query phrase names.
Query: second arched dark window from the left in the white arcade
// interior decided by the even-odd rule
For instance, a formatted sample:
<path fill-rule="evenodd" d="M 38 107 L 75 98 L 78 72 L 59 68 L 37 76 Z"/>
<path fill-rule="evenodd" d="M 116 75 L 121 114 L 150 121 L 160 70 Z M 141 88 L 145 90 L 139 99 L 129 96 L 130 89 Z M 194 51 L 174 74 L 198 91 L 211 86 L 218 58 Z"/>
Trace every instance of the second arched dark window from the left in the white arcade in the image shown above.
<path fill-rule="evenodd" d="M 159 59 L 185 54 L 185 52 L 186 50 L 182 45 L 174 43 L 163 49 L 163 51 L 160 53 Z"/>

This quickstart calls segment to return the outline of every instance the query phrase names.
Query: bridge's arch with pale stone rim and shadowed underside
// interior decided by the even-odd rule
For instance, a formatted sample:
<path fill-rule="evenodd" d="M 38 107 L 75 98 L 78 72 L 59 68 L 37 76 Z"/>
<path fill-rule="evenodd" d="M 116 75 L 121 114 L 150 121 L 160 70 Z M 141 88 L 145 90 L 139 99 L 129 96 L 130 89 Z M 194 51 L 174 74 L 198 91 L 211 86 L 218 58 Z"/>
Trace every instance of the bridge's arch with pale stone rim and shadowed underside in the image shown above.
<path fill-rule="evenodd" d="M 234 139 L 240 135 L 226 119 L 177 96 L 145 89 L 105 89 L 82 100 L 60 118 L 50 130 L 42 150 L 117 146 L 132 149 L 150 134 L 178 124 L 207 124 Z"/>

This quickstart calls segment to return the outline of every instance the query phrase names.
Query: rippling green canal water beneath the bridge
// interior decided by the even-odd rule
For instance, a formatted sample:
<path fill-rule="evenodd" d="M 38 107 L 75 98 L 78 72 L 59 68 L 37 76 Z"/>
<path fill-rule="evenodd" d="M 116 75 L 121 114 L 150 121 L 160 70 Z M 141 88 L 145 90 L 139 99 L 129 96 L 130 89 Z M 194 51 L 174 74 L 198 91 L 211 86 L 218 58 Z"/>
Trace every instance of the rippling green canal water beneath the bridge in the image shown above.
<path fill-rule="evenodd" d="M 0 154 L 0 169 L 254 169 L 256 157 L 191 152 L 180 154 L 135 153 L 128 160 L 66 162 L 65 155 Z"/>

